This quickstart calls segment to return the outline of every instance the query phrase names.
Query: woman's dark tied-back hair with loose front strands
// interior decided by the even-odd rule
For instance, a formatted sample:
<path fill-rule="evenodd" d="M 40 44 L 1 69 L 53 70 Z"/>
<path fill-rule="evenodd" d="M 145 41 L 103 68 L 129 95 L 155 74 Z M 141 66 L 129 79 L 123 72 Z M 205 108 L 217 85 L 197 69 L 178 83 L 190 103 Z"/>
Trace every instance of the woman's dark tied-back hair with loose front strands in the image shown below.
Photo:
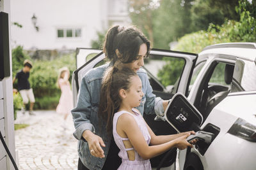
<path fill-rule="evenodd" d="M 106 36 L 103 46 L 103 52 L 109 60 L 114 62 L 118 60 L 116 49 L 120 52 L 120 61 L 130 63 L 138 59 L 140 45 L 147 45 L 147 54 L 150 51 L 150 41 L 144 34 L 134 26 L 121 27 L 119 25 L 111 27 Z"/>

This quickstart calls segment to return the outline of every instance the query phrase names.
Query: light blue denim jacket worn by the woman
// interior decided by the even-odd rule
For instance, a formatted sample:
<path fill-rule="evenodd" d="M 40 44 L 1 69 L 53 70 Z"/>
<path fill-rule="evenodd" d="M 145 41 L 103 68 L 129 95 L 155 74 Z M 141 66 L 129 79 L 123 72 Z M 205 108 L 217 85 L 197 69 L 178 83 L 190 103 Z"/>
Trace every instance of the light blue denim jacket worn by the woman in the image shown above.
<path fill-rule="evenodd" d="M 108 155 L 111 138 L 108 137 L 106 128 L 99 128 L 98 104 L 100 99 L 100 88 L 104 71 L 109 64 L 96 67 L 88 71 L 81 81 L 81 87 L 77 96 L 77 106 L 71 111 L 76 131 L 74 137 L 78 139 L 78 155 L 84 166 L 91 170 L 102 169 Z M 163 99 L 152 94 L 152 87 L 148 81 L 147 72 L 144 69 L 137 71 L 141 78 L 142 91 L 144 93 L 143 102 L 137 109 L 143 115 L 157 114 L 163 116 Z M 90 130 L 100 136 L 106 147 L 102 147 L 105 157 L 100 159 L 93 157 L 90 153 L 88 143 L 82 138 L 85 130 Z"/>

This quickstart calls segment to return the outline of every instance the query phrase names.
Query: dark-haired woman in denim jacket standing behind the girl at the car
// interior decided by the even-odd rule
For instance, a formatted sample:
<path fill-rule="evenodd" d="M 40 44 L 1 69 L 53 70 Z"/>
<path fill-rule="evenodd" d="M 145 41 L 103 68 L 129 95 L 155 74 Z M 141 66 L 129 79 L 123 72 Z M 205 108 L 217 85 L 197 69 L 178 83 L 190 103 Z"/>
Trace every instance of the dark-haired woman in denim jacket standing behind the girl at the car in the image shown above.
<path fill-rule="evenodd" d="M 100 87 L 104 71 L 108 67 L 128 67 L 138 74 L 142 82 L 143 103 L 137 107 L 141 114 L 156 113 L 163 116 L 168 101 L 152 94 L 146 71 L 141 69 L 148 56 L 150 42 L 135 27 L 114 26 L 109 29 L 104 41 L 104 53 L 111 62 L 88 71 L 81 81 L 77 106 L 72 112 L 78 139 L 78 169 L 117 169 L 121 160 L 119 149 L 106 129 L 100 128 L 97 111 L 99 108 Z M 102 122 L 103 127 L 106 122 Z"/>

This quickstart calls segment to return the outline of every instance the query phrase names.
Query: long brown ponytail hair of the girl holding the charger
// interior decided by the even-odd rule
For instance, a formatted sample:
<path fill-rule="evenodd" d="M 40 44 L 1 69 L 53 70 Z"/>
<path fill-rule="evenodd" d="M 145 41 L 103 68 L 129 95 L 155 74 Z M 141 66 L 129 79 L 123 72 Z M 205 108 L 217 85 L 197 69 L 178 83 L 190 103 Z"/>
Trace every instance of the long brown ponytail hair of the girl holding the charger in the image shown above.
<path fill-rule="evenodd" d="M 120 98 L 120 89 L 129 90 L 131 87 L 131 77 L 138 76 L 131 69 L 124 67 L 109 67 L 104 73 L 102 87 L 100 90 L 99 103 L 99 124 L 101 128 L 106 128 L 109 136 L 112 134 L 113 117 L 120 108 L 122 102 Z M 102 121 L 106 122 L 106 127 L 102 127 Z"/>

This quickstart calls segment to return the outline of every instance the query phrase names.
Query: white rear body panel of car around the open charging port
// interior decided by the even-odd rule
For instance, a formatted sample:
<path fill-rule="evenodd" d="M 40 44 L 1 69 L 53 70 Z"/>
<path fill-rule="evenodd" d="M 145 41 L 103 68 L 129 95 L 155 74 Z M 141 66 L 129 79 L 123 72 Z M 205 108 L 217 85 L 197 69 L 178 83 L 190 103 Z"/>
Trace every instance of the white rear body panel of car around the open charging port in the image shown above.
<path fill-rule="evenodd" d="M 204 169 L 255 169 L 256 143 L 227 133 L 237 118 L 243 118 L 248 123 L 256 125 L 255 103 L 256 92 L 252 92 L 244 96 L 228 96 L 212 110 L 202 128 L 211 123 L 221 127 L 220 134 L 204 156 L 195 148 L 191 150 L 200 156 Z"/>

